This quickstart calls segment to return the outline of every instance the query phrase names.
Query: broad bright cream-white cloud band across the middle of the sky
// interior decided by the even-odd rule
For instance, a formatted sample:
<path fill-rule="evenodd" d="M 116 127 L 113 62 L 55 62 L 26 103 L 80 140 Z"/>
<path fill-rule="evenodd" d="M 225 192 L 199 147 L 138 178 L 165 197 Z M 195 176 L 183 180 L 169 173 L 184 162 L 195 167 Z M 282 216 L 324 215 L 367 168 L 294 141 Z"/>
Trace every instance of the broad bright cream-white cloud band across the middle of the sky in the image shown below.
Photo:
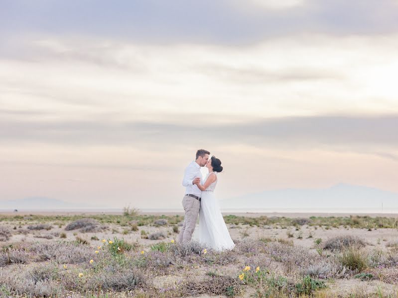
<path fill-rule="evenodd" d="M 0 102 L 62 119 L 383 115 L 398 112 L 397 40 L 303 35 L 230 47 L 47 36 L 0 60 Z"/>

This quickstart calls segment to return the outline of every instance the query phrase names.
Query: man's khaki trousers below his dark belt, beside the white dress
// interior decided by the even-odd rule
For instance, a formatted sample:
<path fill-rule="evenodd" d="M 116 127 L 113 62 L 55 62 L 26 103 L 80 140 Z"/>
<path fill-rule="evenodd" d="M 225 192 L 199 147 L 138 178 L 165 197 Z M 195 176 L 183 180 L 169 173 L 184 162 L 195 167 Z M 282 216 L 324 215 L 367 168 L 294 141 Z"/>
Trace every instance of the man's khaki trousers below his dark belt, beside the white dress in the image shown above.
<path fill-rule="evenodd" d="M 195 198 L 185 195 L 182 199 L 182 207 L 184 207 L 185 217 L 184 224 L 182 225 L 180 234 L 178 235 L 179 242 L 191 240 L 196 220 L 199 215 L 200 202 Z"/>

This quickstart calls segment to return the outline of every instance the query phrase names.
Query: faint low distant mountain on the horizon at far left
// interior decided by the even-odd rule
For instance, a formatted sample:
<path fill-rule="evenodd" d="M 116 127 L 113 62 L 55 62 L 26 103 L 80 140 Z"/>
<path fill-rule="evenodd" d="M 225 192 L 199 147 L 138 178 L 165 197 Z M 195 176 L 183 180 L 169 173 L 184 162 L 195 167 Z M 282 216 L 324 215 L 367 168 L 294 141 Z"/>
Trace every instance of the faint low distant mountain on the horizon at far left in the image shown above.
<path fill-rule="evenodd" d="M 17 209 L 17 210 L 32 210 L 32 209 L 75 209 L 75 208 L 100 208 L 97 205 L 90 205 L 86 203 L 70 203 L 61 200 L 50 199 L 45 197 L 31 197 L 17 200 L 0 201 L 0 210 Z"/>

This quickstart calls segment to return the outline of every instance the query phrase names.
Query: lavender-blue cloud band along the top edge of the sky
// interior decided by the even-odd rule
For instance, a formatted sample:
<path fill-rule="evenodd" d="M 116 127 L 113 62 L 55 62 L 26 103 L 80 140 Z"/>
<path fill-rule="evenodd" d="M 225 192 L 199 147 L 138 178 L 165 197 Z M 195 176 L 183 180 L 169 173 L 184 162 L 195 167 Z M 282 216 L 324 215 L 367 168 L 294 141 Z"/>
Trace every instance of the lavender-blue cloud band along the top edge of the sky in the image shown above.
<path fill-rule="evenodd" d="M 23 4 L 21 4 L 23 3 Z M 395 0 L 35 1 L 2 4 L 0 34 L 76 35 L 145 43 L 246 44 L 302 33 L 398 30 Z"/>

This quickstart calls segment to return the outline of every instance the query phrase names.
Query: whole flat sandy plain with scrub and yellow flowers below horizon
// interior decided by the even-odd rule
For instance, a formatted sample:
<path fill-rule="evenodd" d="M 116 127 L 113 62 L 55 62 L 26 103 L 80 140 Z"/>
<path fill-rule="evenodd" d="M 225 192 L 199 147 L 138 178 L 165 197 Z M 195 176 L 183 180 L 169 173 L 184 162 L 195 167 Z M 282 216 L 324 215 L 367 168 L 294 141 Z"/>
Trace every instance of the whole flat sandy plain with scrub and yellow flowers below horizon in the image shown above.
<path fill-rule="evenodd" d="M 397 218 L 225 215 L 236 247 L 178 243 L 180 214 L 0 215 L 1 297 L 398 297 Z"/>

